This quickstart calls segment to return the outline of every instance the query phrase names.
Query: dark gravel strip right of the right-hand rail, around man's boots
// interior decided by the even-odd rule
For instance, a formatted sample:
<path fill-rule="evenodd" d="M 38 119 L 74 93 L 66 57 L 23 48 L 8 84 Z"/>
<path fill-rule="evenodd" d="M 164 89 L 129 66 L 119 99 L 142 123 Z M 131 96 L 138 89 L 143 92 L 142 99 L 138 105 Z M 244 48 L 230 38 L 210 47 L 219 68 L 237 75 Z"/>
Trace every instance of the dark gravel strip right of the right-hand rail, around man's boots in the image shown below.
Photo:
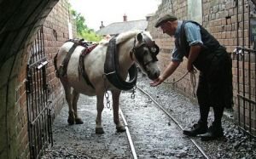
<path fill-rule="evenodd" d="M 149 86 L 149 80 L 139 78 L 138 87 L 143 88 L 157 102 L 165 107 L 174 116 L 183 128 L 190 128 L 199 119 L 199 106 L 191 102 L 181 94 L 172 90 L 170 84 L 162 83 L 156 88 Z M 182 82 L 182 81 L 181 81 Z M 215 141 L 201 141 L 195 137 L 195 141 L 207 151 L 210 158 L 256 158 L 256 139 L 251 139 L 242 131 L 239 131 L 236 122 L 232 118 L 232 111 L 225 111 L 223 117 L 224 139 Z M 208 123 L 213 120 L 212 110 Z"/>

